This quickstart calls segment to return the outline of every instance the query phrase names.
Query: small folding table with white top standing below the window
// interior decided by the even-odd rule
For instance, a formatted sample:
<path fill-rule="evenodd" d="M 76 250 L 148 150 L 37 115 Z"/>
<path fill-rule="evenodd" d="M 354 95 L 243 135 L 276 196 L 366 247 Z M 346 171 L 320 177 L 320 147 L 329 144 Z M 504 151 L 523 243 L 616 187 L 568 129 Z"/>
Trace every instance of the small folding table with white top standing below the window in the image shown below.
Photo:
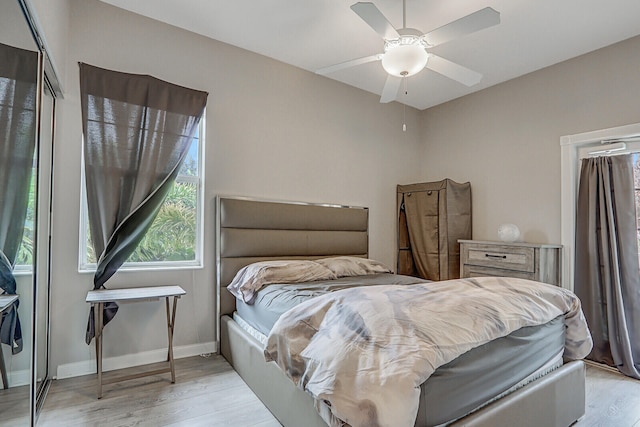
<path fill-rule="evenodd" d="M 127 381 L 135 378 L 158 375 L 171 372 L 171 382 L 176 382 L 176 373 L 173 363 L 173 326 L 176 318 L 176 306 L 178 299 L 186 292 L 180 286 L 153 286 L 145 288 L 123 288 L 123 289 L 99 289 L 87 292 L 86 302 L 91 304 L 95 316 L 95 341 L 96 341 L 96 361 L 98 370 L 98 399 L 102 398 L 102 385 L 111 384 L 118 381 Z M 173 297 L 173 309 L 169 308 L 169 299 Z M 169 337 L 167 362 L 169 366 L 149 372 L 124 375 L 108 380 L 102 379 L 102 329 L 104 304 L 107 302 L 144 302 L 158 301 L 164 298 L 167 308 L 167 333 Z"/>

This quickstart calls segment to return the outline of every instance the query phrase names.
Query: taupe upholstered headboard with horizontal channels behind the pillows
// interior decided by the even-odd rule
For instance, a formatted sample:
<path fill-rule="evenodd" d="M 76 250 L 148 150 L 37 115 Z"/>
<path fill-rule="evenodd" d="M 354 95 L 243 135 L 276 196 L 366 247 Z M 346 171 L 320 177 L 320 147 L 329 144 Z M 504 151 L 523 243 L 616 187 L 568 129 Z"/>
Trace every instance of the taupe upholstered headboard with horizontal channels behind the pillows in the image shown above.
<path fill-rule="evenodd" d="M 257 261 L 369 253 L 369 210 L 362 207 L 216 197 L 218 315 L 235 310 L 226 286 Z"/>

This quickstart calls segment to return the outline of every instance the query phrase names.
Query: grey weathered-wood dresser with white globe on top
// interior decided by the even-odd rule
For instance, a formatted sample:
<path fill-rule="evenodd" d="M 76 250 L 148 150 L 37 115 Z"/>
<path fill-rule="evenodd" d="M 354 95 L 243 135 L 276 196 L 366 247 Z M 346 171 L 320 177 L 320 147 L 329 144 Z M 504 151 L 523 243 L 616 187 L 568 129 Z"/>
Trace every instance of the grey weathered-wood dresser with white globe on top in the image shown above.
<path fill-rule="evenodd" d="M 560 286 L 562 246 L 458 240 L 460 277 L 517 277 Z"/>

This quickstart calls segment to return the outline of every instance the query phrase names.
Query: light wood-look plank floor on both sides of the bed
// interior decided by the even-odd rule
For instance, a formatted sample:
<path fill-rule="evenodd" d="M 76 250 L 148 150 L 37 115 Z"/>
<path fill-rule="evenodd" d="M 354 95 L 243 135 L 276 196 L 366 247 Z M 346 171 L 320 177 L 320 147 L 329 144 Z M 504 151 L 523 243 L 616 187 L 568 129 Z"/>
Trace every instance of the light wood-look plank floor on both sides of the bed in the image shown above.
<path fill-rule="evenodd" d="M 104 386 L 100 400 L 95 375 L 54 381 L 37 425 L 280 426 L 221 356 L 177 360 L 175 384 L 164 374 Z M 589 366 L 586 415 L 574 426 L 640 427 L 640 381 Z"/>

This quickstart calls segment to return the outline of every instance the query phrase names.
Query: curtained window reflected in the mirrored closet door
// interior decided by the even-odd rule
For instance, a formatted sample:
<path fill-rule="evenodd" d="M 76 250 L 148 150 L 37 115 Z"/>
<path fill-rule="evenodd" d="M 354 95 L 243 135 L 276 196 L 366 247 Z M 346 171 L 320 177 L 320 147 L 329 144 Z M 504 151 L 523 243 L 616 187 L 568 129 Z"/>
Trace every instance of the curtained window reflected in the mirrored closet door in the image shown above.
<path fill-rule="evenodd" d="M 0 44 L 0 292 L 34 260 L 38 53 Z M 6 279 L 5 279 L 6 275 Z"/>

